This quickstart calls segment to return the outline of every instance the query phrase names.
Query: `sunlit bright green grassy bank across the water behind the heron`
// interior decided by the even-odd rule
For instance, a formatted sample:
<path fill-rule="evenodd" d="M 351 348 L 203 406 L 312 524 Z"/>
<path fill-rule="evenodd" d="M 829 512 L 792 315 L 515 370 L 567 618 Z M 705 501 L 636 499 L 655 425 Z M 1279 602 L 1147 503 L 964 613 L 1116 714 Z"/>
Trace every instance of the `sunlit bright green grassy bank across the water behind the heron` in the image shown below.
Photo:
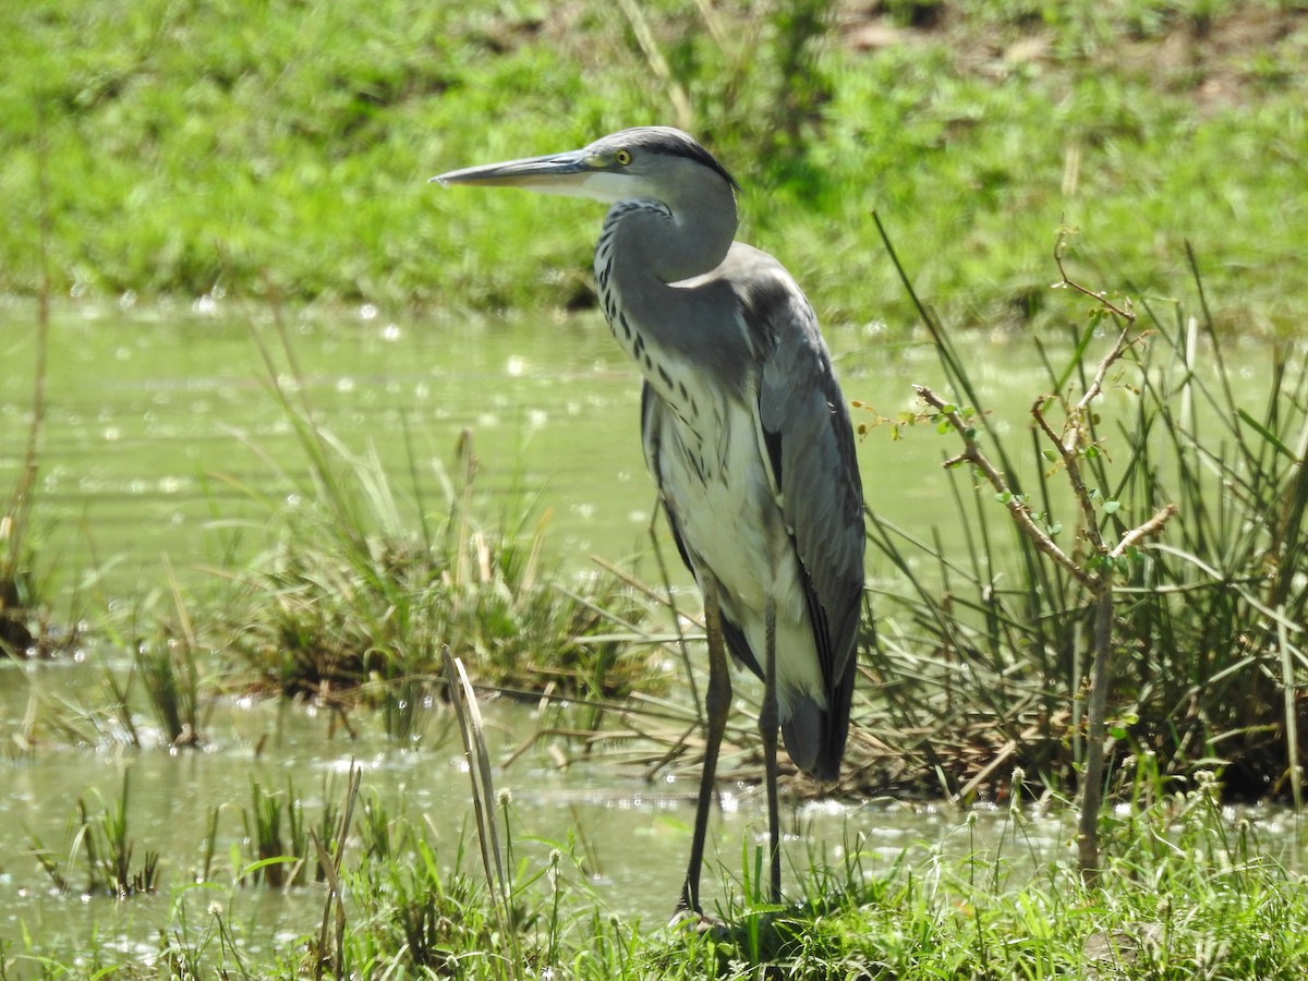
<path fill-rule="evenodd" d="M 594 209 L 425 179 L 664 122 L 825 318 L 910 322 L 875 207 L 963 323 L 1039 315 L 1067 222 L 1142 293 L 1202 243 L 1216 319 L 1287 330 L 1305 25 L 1271 0 L 12 4 L 0 292 L 37 289 L 43 143 L 56 292 L 585 305 Z"/>

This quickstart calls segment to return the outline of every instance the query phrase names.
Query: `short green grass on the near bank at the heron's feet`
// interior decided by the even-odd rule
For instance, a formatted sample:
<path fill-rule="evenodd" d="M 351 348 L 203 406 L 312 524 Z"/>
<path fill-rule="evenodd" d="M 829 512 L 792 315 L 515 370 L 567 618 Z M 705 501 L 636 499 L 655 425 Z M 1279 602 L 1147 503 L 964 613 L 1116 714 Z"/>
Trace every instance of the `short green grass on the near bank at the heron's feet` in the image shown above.
<path fill-rule="evenodd" d="M 517 850 L 530 829 L 506 800 L 497 808 L 511 883 L 501 905 L 467 838 L 436 836 L 352 777 L 330 791 L 341 799 L 327 804 L 324 848 L 309 861 L 330 865 L 320 878 L 337 889 L 315 893 L 326 903 L 320 930 L 251 944 L 239 913 L 249 887 L 213 866 L 198 884 L 158 884 L 171 891 L 171 912 L 153 967 L 139 948 L 111 944 L 75 967 L 54 954 L 56 938 L 35 935 L 0 952 L 0 977 L 94 968 L 149 978 L 178 976 L 169 972 L 179 965 L 192 972 L 183 977 L 266 978 L 1301 977 L 1301 875 L 1262 853 L 1256 825 L 1223 814 L 1211 780 L 1185 789 L 1146 768 L 1141 789 L 1129 812 L 1105 818 L 1100 889 L 1080 884 L 1070 848 L 1063 857 L 1049 844 L 1048 816 L 1019 795 L 998 844 L 984 849 L 968 846 L 961 815 L 950 849 L 913 844 L 888 855 L 850 832 L 835 858 L 808 858 L 781 908 L 752 896 L 746 849 L 742 869 L 713 889 L 722 923 L 697 933 L 612 916 L 568 842 Z"/>

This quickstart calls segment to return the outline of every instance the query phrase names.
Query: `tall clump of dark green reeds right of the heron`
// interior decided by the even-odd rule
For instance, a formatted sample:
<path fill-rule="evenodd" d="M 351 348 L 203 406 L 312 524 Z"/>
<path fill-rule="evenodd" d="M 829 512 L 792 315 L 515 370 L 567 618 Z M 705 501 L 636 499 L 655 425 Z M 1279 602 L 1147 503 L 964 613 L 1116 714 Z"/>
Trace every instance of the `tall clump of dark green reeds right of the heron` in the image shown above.
<path fill-rule="evenodd" d="M 1138 340 L 1109 358 L 1088 357 L 1100 314 L 1069 328 L 1069 347 L 1041 345 L 1054 398 L 1035 400 L 1019 453 L 923 307 L 952 396 L 923 392 L 925 416 L 964 442 L 952 460 L 964 545 L 913 540 L 870 511 L 874 549 L 896 572 L 872 667 L 888 738 L 954 793 L 1022 765 L 1092 800 L 1087 785 L 1109 783 L 1096 756 L 1151 752 L 1173 776 L 1220 761 L 1236 797 L 1300 795 L 1308 361 L 1271 348 L 1266 381 L 1249 386 L 1206 318 L 1142 310 Z M 1095 392 L 1112 399 L 1087 402 Z M 1050 404 L 1067 409 L 1061 429 Z M 1082 725 L 1087 708 L 1101 729 Z"/>

